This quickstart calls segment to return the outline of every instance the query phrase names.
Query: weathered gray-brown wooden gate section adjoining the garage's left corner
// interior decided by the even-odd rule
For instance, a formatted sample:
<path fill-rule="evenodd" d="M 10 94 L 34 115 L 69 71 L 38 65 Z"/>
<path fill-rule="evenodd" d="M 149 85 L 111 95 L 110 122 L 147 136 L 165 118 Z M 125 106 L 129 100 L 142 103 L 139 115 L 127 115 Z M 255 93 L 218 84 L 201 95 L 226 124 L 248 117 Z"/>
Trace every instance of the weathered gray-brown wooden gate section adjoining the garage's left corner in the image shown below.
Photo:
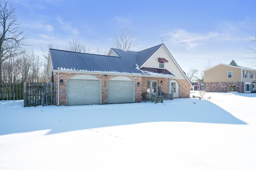
<path fill-rule="evenodd" d="M 24 107 L 55 105 L 56 83 L 24 83 Z"/>

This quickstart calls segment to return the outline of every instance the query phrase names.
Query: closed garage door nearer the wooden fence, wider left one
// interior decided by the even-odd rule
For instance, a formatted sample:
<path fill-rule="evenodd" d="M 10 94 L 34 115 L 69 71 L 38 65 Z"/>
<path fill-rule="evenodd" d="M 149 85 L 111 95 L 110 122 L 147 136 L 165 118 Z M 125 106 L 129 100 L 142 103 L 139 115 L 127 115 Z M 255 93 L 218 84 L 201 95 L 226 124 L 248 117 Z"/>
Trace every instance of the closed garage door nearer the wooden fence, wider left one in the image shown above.
<path fill-rule="evenodd" d="M 67 84 L 67 105 L 100 104 L 100 81 L 69 79 Z"/>

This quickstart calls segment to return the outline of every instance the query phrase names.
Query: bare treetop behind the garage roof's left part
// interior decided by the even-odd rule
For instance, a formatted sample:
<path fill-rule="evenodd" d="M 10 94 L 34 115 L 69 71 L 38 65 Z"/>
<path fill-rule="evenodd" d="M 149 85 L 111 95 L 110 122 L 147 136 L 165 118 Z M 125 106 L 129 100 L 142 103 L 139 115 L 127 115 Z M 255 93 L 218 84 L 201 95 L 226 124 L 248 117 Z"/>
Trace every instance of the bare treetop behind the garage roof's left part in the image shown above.
<path fill-rule="evenodd" d="M 69 45 L 66 46 L 66 49 L 68 51 L 74 51 L 78 53 L 90 53 L 91 52 L 91 47 L 78 41 L 78 40 L 72 40 L 69 41 Z"/>

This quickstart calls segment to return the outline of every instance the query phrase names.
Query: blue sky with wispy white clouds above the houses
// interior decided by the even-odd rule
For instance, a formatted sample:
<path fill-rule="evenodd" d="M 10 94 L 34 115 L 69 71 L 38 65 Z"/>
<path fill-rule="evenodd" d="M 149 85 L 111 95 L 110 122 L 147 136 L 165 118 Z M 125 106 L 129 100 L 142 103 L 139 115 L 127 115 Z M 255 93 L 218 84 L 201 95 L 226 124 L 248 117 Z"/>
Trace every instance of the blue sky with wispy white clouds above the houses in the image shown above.
<path fill-rule="evenodd" d="M 27 42 L 38 55 L 52 44 L 64 49 L 78 40 L 109 51 L 120 28 L 135 33 L 130 50 L 158 45 L 163 38 L 180 67 L 203 71 L 204 66 L 250 67 L 247 38 L 256 24 L 255 0 L 8 0 L 16 8 Z"/>

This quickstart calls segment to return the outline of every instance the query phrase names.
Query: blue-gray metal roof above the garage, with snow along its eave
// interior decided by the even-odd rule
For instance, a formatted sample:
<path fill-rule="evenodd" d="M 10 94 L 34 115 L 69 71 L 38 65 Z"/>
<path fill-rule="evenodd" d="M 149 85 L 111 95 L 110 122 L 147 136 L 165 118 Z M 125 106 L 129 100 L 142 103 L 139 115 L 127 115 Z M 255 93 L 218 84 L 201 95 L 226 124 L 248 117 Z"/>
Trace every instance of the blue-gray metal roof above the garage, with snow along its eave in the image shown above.
<path fill-rule="evenodd" d="M 138 52 L 136 51 L 125 51 L 121 49 L 112 50 L 117 53 L 119 57 L 78 53 L 59 49 L 50 49 L 50 56 L 53 69 L 59 70 L 174 76 L 167 70 L 163 71 L 163 69 L 162 72 L 158 71 L 159 69 L 139 69 Z"/>

